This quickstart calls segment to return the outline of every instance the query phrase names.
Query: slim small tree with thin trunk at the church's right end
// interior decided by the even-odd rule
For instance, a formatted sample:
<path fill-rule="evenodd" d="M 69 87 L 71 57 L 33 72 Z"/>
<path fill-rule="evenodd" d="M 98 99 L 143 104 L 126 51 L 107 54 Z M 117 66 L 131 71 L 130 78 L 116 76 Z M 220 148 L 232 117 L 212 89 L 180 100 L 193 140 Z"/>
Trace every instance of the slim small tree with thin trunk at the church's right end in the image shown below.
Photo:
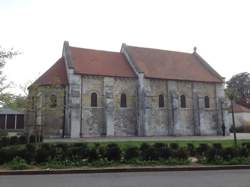
<path fill-rule="evenodd" d="M 233 88 L 227 88 L 225 93 L 231 102 L 232 122 L 233 122 L 233 133 L 234 133 L 234 145 L 237 146 L 236 128 L 234 120 L 234 103 L 239 99 L 239 92 Z"/>

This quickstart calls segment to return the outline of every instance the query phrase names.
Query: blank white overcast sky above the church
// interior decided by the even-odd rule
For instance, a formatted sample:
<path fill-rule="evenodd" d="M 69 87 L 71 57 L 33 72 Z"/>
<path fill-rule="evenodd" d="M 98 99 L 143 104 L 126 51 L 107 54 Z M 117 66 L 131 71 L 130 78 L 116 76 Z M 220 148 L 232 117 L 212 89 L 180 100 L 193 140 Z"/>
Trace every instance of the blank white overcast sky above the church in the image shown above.
<path fill-rule="evenodd" d="M 4 69 L 16 85 L 53 65 L 64 40 L 109 51 L 122 43 L 183 52 L 197 46 L 226 79 L 250 72 L 249 0 L 0 0 L 0 20 L 0 45 L 22 52 Z"/>

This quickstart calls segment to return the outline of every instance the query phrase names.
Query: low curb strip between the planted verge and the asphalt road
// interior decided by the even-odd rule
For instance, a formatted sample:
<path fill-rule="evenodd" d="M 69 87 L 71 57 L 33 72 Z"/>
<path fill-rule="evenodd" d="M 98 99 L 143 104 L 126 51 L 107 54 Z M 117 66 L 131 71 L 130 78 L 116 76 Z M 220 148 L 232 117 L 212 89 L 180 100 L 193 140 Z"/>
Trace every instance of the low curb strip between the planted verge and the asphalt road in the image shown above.
<path fill-rule="evenodd" d="M 250 165 L 231 166 L 186 166 L 186 167 L 134 167 L 134 168 L 95 168 L 95 169 L 58 169 L 58 170 L 15 170 L 0 171 L 3 175 L 48 175 L 48 174 L 88 174 L 88 173 L 124 173 L 124 172 L 171 172 L 171 171 L 208 171 L 250 169 Z"/>

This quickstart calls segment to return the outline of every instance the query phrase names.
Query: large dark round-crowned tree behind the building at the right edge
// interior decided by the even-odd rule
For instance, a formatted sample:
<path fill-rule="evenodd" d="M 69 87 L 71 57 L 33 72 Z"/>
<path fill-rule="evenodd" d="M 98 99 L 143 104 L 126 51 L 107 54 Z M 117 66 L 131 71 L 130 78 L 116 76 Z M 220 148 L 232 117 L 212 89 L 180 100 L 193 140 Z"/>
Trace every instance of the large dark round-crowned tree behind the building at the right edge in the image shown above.
<path fill-rule="evenodd" d="M 243 72 L 234 75 L 227 81 L 227 88 L 235 89 L 238 92 L 237 103 L 250 107 L 250 73 Z"/>

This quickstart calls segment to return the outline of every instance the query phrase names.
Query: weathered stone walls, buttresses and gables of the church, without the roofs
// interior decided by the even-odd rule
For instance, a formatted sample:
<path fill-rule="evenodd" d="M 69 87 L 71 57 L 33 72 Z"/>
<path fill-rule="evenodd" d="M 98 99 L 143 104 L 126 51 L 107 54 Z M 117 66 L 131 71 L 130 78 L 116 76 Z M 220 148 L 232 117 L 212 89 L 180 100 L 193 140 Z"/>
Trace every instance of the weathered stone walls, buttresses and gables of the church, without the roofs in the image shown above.
<path fill-rule="evenodd" d="M 223 82 L 148 78 L 124 46 L 121 53 L 134 78 L 84 75 L 75 72 L 66 42 L 63 58 L 68 83 L 59 89 L 63 95 L 58 90 L 41 89 L 38 105 L 43 106 L 56 95 L 57 107 L 46 113 L 31 111 L 30 121 L 43 127 L 46 137 L 221 135 L 222 125 L 228 133 Z M 92 94 L 96 95 L 94 106 Z M 126 97 L 125 106 L 121 104 L 122 95 Z M 181 97 L 185 97 L 185 106 Z M 209 106 L 205 106 L 205 97 Z M 53 111 L 63 115 L 54 115 Z"/>

